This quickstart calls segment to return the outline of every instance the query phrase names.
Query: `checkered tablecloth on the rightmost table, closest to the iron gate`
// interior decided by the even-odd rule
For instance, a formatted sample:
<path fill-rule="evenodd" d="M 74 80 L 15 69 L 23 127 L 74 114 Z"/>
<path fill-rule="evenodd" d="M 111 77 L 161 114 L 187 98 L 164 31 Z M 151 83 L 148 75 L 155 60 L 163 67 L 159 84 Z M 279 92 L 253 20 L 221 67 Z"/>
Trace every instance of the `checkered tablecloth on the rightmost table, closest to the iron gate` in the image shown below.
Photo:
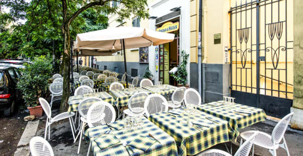
<path fill-rule="evenodd" d="M 223 101 L 212 102 L 197 107 L 198 110 L 214 115 L 229 122 L 230 126 L 235 130 L 234 138 L 239 135 L 239 129 L 245 128 L 260 121 L 265 121 L 266 113 L 263 109 L 234 104 L 232 106 L 213 106 L 222 104 Z M 236 110 L 246 110 L 251 114 L 237 113 Z"/>

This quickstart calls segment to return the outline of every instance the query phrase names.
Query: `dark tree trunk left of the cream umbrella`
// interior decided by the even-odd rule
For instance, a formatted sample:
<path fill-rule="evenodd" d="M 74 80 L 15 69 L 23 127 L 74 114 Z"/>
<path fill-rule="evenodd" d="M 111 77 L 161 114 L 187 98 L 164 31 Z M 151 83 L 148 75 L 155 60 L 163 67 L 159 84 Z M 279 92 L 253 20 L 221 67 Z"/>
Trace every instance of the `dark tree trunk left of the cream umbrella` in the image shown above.
<path fill-rule="evenodd" d="M 62 33 L 64 35 L 64 52 L 63 52 L 63 94 L 60 106 L 60 112 L 66 112 L 69 105 L 70 96 L 70 32 L 68 25 L 62 25 Z"/>

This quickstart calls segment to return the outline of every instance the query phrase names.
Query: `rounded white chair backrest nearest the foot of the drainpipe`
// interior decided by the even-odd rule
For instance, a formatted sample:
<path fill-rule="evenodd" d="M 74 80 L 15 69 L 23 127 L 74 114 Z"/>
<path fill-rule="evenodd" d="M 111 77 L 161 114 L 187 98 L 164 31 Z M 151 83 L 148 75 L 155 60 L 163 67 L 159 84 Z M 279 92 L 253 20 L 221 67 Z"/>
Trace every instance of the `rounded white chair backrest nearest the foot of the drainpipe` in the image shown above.
<path fill-rule="evenodd" d="M 201 96 L 195 89 L 189 88 L 184 93 L 184 103 L 185 105 L 187 104 L 200 105 Z"/>

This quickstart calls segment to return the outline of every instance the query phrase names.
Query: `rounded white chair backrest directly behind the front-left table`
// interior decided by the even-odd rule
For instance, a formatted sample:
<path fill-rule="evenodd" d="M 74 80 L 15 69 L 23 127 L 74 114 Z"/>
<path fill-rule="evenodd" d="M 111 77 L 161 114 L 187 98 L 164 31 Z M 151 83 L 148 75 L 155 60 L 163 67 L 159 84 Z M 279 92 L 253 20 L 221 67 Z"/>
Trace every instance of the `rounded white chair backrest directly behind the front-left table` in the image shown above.
<path fill-rule="evenodd" d="M 114 107 L 105 101 L 95 102 L 87 112 L 87 123 L 89 127 L 109 124 L 116 119 Z"/>

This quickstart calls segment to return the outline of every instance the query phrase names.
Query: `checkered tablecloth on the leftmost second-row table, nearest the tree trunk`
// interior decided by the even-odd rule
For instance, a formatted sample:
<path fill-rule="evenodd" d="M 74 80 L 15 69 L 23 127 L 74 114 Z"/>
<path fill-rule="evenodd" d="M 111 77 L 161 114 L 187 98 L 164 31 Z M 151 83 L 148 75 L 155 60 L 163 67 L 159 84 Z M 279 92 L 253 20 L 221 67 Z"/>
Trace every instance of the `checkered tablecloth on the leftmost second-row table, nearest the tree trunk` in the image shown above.
<path fill-rule="evenodd" d="M 68 112 L 76 112 L 78 110 L 78 106 L 80 102 L 86 98 L 100 98 L 105 102 L 110 103 L 113 106 L 116 106 L 116 101 L 113 99 L 111 95 L 109 95 L 107 92 L 99 92 L 93 95 L 79 95 L 79 96 L 72 96 L 68 99 Z"/>

